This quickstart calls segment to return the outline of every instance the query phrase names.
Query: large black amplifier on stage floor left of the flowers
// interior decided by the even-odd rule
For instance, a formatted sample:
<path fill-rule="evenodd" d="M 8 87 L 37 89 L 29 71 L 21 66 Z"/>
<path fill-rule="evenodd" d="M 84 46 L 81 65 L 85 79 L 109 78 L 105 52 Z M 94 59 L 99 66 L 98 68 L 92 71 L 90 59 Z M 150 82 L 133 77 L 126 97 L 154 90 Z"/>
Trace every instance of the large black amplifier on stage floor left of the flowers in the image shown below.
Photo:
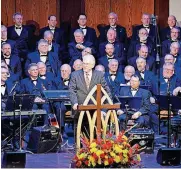
<path fill-rule="evenodd" d="M 34 127 L 27 145 L 33 153 L 57 152 L 60 146 L 60 129 L 54 126 Z"/>

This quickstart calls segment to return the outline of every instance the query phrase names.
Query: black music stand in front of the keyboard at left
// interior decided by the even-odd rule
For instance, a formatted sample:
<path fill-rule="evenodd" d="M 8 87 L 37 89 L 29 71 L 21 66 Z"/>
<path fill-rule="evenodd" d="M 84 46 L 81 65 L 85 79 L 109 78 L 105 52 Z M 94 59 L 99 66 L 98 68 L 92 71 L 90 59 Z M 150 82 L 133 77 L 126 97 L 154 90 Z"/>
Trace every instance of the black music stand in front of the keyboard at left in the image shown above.
<path fill-rule="evenodd" d="M 14 115 L 13 115 L 13 121 L 15 124 L 15 115 L 16 115 L 16 111 L 19 111 L 19 116 L 20 116 L 20 137 L 19 137 L 19 141 L 20 141 L 20 148 L 19 151 L 22 151 L 22 147 L 21 147 L 21 111 L 32 111 L 33 108 L 33 103 L 35 100 L 35 95 L 31 95 L 31 94 L 17 94 L 17 95 L 13 95 L 13 96 L 8 96 L 7 98 L 7 102 L 6 102 L 6 107 L 5 107 L 5 112 L 6 111 L 13 111 Z M 14 128 L 14 124 L 13 124 L 13 149 L 15 149 L 15 128 Z"/>

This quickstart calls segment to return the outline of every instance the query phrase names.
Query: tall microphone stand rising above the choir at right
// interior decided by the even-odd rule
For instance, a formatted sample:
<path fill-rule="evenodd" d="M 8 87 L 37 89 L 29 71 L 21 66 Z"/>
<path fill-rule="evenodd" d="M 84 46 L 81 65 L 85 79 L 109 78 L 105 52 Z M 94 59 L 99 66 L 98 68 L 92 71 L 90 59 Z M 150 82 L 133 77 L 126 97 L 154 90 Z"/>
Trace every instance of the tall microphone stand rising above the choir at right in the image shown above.
<path fill-rule="evenodd" d="M 156 74 L 158 76 L 158 95 L 160 95 L 160 36 L 158 32 L 158 24 L 157 24 L 157 17 L 152 15 L 152 24 L 155 26 L 155 43 L 156 43 Z M 158 133 L 160 134 L 160 104 L 158 105 L 158 116 L 159 116 L 159 124 L 158 124 Z"/>

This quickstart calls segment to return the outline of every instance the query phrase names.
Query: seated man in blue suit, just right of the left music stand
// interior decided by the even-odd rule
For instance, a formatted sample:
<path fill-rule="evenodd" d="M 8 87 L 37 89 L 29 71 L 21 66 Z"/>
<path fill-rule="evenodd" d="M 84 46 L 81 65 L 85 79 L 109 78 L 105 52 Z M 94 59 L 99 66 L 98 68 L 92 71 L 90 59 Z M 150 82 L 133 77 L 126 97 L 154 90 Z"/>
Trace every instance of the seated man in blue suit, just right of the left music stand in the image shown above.
<path fill-rule="evenodd" d="M 47 81 L 38 77 L 38 66 L 32 63 L 28 67 L 29 77 L 21 80 L 20 93 L 36 95 L 33 109 L 44 109 L 49 114 L 50 106 L 43 98 L 43 91 L 50 89 Z M 48 124 L 48 116 L 44 116 L 44 124 Z"/>

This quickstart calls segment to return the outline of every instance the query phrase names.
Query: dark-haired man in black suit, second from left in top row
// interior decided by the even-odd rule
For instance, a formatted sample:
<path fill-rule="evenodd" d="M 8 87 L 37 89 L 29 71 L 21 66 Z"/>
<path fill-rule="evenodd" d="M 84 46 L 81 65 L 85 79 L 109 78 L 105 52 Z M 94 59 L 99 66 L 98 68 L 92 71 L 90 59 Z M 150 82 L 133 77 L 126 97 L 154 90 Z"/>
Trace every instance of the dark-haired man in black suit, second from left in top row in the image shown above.
<path fill-rule="evenodd" d="M 60 45 L 60 52 L 65 51 L 65 37 L 64 37 L 64 30 L 56 27 L 57 25 L 57 18 L 55 15 L 50 15 L 48 17 L 48 26 L 40 29 L 40 39 L 44 37 L 44 32 L 49 30 L 53 33 L 53 41 Z"/>

